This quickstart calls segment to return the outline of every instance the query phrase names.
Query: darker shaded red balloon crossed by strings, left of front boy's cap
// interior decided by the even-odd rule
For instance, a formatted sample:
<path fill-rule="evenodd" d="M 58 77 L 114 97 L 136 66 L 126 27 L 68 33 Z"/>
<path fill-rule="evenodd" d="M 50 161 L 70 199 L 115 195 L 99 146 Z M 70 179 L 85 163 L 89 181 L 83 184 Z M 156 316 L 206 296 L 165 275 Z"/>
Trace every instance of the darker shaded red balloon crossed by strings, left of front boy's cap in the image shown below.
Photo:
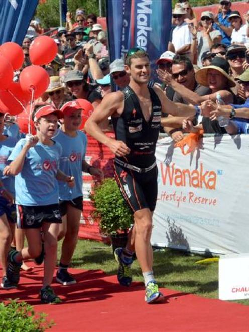
<path fill-rule="evenodd" d="M 23 92 L 19 82 L 12 82 L 8 90 L 1 90 L 0 99 L 12 116 L 23 112 L 23 107 L 26 107 L 29 101 L 29 97 Z"/>

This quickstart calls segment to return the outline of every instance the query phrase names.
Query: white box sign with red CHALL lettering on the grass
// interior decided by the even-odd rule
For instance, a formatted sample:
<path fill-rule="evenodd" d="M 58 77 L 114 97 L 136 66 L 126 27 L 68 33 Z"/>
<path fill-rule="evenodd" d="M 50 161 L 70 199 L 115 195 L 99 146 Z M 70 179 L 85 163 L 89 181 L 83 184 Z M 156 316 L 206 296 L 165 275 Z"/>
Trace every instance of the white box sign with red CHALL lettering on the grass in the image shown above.
<path fill-rule="evenodd" d="M 249 254 L 220 257 L 219 299 L 249 299 Z"/>

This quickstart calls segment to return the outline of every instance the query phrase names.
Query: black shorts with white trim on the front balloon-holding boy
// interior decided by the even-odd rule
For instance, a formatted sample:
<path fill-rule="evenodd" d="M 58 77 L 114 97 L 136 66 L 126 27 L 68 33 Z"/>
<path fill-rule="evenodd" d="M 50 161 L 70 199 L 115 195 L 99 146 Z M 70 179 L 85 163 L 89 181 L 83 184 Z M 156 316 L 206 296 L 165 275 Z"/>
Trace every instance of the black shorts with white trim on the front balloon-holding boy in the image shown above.
<path fill-rule="evenodd" d="M 17 205 L 18 228 L 41 228 L 43 222 L 62 223 L 59 204 L 43 206 Z"/>

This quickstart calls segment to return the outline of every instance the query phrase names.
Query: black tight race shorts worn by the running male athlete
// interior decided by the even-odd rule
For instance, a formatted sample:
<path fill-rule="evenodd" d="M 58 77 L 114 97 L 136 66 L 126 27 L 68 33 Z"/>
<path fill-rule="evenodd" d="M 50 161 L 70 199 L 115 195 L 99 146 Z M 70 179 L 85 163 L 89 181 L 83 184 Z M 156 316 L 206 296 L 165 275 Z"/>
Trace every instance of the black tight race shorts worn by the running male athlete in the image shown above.
<path fill-rule="evenodd" d="M 136 212 L 143 208 L 155 210 L 157 202 L 157 166 L 138 173 L 114 163 L 115 178 L 127 205 Z"/>

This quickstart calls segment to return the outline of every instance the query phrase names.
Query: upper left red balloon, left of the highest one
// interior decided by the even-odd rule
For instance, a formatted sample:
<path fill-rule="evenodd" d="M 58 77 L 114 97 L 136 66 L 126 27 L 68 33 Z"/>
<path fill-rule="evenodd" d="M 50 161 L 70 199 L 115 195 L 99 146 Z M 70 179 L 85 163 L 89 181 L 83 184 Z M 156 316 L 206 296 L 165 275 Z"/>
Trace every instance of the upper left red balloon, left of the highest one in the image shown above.
<path fill-rule="evenodd" d="M 22 67 L 24 62 L 24 53 L 22 47 L 14 42 L 7 42 L 0 46 L 0 53 L 10 61 L 13 70 Z"/>

